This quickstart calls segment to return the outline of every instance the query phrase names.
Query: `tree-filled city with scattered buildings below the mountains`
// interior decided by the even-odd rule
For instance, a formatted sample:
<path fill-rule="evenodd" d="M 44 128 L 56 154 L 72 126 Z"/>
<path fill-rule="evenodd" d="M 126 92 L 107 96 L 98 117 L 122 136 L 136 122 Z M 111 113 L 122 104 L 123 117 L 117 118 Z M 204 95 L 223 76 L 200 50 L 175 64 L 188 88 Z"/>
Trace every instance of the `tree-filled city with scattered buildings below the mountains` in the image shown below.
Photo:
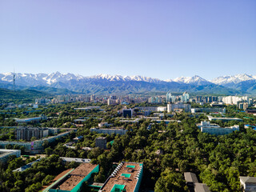
<path fill-rule="evenodd" d="M 167 191 L 166 183 L 175 191 L 256 187 L 254 162 L 241 162 L 254 158 L 252 95 L 168 91 L 158 96 L 62 94 L 1 101 L 2 171 L 36 175 L 24 181 L 9 178 L 16 181 L 11 189 Z M 232 166 L 237 174 L 231 172 L 232 180 L 225 182 L 206 167 L 219 163 L 210 169 L 230 169 L 235 161 L 240 162 L 238 168 Z M 229 179 L 229 171 L 218 177 Z M 9 186 L 1 187 L 7 191 Z"/>

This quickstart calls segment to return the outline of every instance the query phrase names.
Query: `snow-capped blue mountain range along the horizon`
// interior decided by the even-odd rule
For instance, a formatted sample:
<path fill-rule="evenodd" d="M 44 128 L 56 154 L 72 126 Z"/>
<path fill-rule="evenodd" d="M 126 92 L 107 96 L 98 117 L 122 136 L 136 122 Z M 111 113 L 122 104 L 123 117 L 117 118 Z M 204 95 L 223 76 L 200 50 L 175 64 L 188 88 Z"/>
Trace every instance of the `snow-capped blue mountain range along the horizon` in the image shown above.
<path fill-rule="evenodd" d="M 14 74 L 0 74 L 0 87 L 6 88 L 13 83 Z M 122 76 L 110 74 L 98 74 L 84 77 L 80 74 L 15 74 L 15 84 L 21 87 L 46 86 L 58 89 L 67 89 L 82 93 L 114 92 L 122 90 L 132 91 L 165 91 L 165 90 L 227 90 L 233 89 L 243 93 L 256 93 L 256 76 L 249 74 L 237 74 L 233 76 L 222 76 L 208 81 L 195 75 L 194 77 L 180 77 L 174 79 L 160 80 L 140 75 Z M 111 90 L 111 91 L 110 91 Z M 230 91 L 230 90 L 228 90 Z M 222 91 L 223 92 L 223 91 Z M 235 92 L 235 91 L 234 91 Z"/>

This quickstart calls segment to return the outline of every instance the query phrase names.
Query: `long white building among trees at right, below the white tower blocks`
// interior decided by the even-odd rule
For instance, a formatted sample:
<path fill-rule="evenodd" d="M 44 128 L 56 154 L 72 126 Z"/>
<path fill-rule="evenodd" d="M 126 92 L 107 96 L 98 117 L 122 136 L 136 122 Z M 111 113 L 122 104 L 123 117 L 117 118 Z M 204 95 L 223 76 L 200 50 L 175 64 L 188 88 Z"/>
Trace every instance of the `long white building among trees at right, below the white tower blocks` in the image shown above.
<path fill-rule="evenodd" d="M 197 126 L 202 131 L 202 133 L 216 134 L 216 135 L 231 134 L 235 130 L 239 130 L 238 125 L 222 128 L 217 124 L 211 124 L 210 122 L 201 122 Z"/>

